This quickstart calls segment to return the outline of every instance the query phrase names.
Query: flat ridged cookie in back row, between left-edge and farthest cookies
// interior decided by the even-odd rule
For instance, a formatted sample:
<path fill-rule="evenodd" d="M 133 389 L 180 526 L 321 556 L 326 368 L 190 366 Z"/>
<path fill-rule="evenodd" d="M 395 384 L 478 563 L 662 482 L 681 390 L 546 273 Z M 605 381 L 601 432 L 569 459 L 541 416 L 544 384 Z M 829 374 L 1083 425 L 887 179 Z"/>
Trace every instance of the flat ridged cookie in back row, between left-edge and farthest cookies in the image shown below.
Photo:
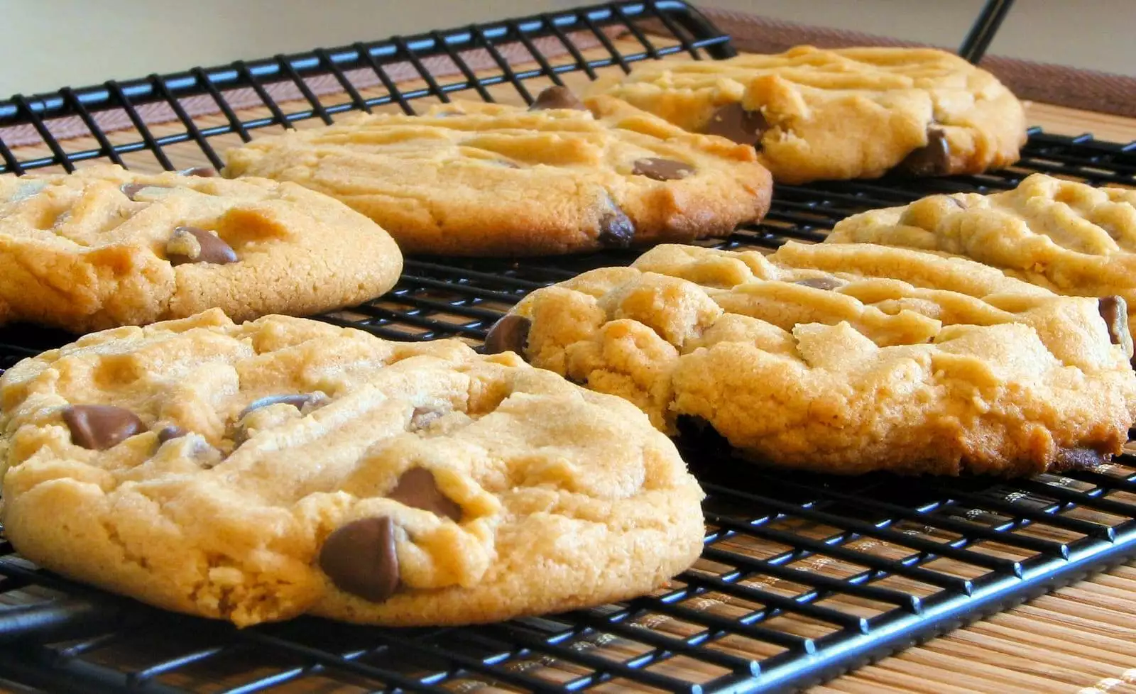
<path fill-rule="evenodd" d="M 229 151 L 224 174 L 327 193 L 408 253 L 540 256 L 693 241 L 757 221 L 770 177 L 755 159 L 610 97 L 585 108 L 551 87 L 529 110 L 456 102 L 261 137 Z"/>

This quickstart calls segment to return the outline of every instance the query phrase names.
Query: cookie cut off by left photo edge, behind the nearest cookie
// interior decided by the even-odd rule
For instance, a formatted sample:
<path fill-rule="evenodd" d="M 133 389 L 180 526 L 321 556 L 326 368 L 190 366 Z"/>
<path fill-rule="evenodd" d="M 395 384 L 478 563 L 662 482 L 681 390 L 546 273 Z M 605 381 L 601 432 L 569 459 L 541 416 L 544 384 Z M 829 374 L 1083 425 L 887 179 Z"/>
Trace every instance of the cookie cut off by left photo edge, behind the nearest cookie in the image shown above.
<path fill-rule="evenodd" d="M 401 269 L 378 225 L 290 183 L 114 165 L 0 177 L 0 323 L 316 313 L 378 296 Z"/>

